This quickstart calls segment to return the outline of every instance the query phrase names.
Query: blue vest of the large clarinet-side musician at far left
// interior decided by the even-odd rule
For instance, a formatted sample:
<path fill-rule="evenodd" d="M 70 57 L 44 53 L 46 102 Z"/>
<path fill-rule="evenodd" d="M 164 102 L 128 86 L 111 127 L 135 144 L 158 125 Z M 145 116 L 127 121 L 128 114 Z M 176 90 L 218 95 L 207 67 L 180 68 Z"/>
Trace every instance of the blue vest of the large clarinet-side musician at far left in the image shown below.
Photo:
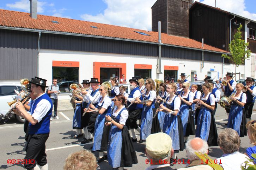
<path fill-rule="evenodd" d="M 50 117 L 51 117 L 51 112 L 53 110 L 53 103 L 51 102 L 51 99 L 49 98 L 49 96 L 46 93 L 44 93 L 38 99 L 34 100 L 33 107 L 31 106 L 31 108 L 30 108 L 30 111 L 31 111 L 30 113 L 31 113 L 31 115 L 33 115 L 33 113 L 36 109 L 36 105 L 43 99 L 48 100 L 48 102 L 51 104 L 51 108 L 50 108 L 50 110 L 47 111 L 46 115 L 42 118 L 42 120 L 40 122 L 38 122 L 35 125 L 32 125 L 31 123 L 29 123 L 29 134 L 30 135 L 50 132 Z"/>

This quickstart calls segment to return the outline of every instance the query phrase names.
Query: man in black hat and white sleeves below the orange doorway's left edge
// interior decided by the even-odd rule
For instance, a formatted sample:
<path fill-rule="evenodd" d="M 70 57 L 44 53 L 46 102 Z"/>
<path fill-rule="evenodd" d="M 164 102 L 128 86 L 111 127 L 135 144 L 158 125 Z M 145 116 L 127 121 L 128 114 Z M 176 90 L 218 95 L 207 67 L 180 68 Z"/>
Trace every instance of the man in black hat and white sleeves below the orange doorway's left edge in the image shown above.
<path fill-rule="evenodd" d="M 81 91 L 81 93 L 86 95 L 86 97 L 89 101 L 89 104 L 92 103 L 94 106 L 97 106 L 97 104 L 99 102 L 99 98 L 100 98 L 100 94 L 99 94 L 99 83 L 100 82 L 97 78 L 91 78 L 91 81 L 89 83 L 92 87 L 91 93 L 87 92 L 86 90 Z M 88 106 L 89 106 L 89 104 L 88 104 Z M 85 108 L 84 111 L 86 109 L 87 108 Z M 95 121 L 96 121 L 98 113 L 91 112 L 91 113 L 85 113 L 85 115 L 86 114 L 88 114 L 88 117 L 90 117 L 88 125 L 87 125 L 87 130 L 88 130 L 88 132 L 93 133 Z M 92 138 L 90 138 L 90 135 L 89 135 L 89 140 L 92 141 Z M 84 141 L 84 142 L 86 142 L 86 141 Z"/>

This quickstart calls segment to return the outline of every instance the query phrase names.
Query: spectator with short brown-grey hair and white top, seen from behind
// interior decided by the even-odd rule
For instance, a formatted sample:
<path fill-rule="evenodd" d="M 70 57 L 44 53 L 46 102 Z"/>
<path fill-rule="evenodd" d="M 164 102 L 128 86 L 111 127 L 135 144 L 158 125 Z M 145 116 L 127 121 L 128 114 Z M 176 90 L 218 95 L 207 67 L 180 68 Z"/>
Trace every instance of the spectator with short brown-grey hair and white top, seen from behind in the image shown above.
<path fill-rule="evenodd" d="M 224 170 L 240 170 L 241 165 L 245 165 L 244 162 L 248 161 L 248 156 L 239 153 L 240 148 L 240 137 L 238 133 L 231 129 L 225 128 L 218 135 L 218 145 L 223 151 L 222 157 L 218 158 L 218 162 Z M 250 163 L 252 164 L 252 163 Z"/>

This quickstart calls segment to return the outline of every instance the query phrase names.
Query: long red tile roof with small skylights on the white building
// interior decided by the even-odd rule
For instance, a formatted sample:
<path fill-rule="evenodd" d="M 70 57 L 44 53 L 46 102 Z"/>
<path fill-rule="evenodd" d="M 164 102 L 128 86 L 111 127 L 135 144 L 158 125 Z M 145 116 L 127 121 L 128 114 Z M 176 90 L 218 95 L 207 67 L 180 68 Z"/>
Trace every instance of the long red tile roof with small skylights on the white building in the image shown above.
<path fill-rule="evenodd" d="M 52 21 L 58 21 L 59 24 L 55 24 Z M 46 15 L 37 15 L 37 19 L 32 19 L 29 16 L 29 13 L 8 11 L 4 9 L 0 9 L 0 26 L 96 35 L 100 37 L 120 38 L 158 43 L 157 32 L 138 30 L 134 28 L 120 27 L 108 24 L 100 24 L 96 22 L 51 17 Z M 96 26 L 98 28 L 92 28 L 91 26 Z M 134 31 L 144 32 L 151 36 L 141 35 Z M 199 41 L 184 37 L 178 37 L 175 35 L 168 35 L 162 33 L 161 39 L 163 44 L 228 53 L 227 51 L 206 44 L 204 44 L 204 48 L 202 48 L 202 43 Z"/>

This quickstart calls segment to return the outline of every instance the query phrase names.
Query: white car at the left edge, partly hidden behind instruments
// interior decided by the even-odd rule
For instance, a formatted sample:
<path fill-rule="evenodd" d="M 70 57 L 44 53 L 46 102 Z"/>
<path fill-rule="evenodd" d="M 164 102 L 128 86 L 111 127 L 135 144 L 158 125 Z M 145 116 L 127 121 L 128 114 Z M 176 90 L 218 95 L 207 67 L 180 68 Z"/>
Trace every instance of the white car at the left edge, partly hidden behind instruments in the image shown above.
<path fill-rule="evenodd" d="M 25 86 L 23 86 L 25 90 Z M 19 81 L 2 81 L 0 82 L 0 113 L 5 115 L 11 108 L 7 102 L 12 102 L 13 97 L 17 96 L 14 90 L 22 91 L 22 85 Z M 24 123 L 24 118 L 15 115 L 15 119 L 20 122 Z"/>

